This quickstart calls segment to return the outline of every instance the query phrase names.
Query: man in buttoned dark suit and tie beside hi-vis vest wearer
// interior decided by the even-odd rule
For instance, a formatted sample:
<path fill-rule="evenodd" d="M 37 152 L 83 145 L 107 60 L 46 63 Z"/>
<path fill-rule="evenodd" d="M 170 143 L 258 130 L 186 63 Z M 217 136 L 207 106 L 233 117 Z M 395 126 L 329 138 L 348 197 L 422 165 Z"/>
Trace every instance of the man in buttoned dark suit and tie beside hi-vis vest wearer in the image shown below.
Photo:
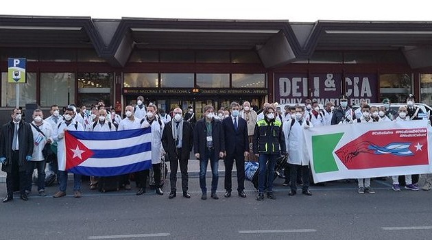
<path fill-rule="evenodd" d="M 222 121 L 225 133 L 225 197 L 231 196 L 232 165 L 237 169 L 237 191 L 240 197 L 246 197 L 245 156 L 249 154 L 248 123 L 239 117 L 240 104 L 231 103 L 231 116 Z"/>

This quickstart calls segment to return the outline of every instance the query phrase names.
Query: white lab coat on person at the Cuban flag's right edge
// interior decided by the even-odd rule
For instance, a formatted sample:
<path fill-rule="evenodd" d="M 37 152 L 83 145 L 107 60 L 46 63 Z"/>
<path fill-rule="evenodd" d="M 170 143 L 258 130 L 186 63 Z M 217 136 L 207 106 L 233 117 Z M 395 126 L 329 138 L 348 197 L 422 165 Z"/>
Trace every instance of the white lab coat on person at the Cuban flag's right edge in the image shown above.
<path fill-rule="evenodd" d="M 160 121 L 162 125 L 159 125 L 158 118 L 155 117 L 152 123 L 152 164 L 160 163 L 160 158 L 162 157 L 162 153 L 164 152 L 162 147 L 162 133 L 165 128 L 165 124 L 163 121 Z M 147 121 L 147 117 L 141 124 L 141 128 L 149 128 L 149 122 Z"/>

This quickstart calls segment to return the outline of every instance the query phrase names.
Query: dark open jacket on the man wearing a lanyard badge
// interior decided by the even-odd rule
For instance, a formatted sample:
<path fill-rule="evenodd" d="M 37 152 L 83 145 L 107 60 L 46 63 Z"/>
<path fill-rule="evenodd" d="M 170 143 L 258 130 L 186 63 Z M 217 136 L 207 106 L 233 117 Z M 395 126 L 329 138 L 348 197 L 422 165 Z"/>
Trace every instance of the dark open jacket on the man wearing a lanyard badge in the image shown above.
<path fill-rule="evenodd" d="M 207 128 L 206 119 L 198 120 L 193 129 L 193 151 L 195 154 L 200 154 L 200 158 L 204 157 L 207 147 Z M 224 129 L 222 128 L 222 122 L 214 119 L 211 121 L 212 125 L 212 139 L 213 148 L 215 149 L 215 158 L 219 159 L 219 152 L 225 151 L 225 136 Z"/>

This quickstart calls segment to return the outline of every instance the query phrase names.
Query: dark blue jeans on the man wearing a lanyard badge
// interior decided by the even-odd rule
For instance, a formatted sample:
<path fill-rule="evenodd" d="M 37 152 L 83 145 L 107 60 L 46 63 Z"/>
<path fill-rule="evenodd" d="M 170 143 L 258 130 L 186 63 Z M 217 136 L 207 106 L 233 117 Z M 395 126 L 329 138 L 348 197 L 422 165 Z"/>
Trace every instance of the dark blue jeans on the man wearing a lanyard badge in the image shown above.
<path fill-rule="evenodd" d="M 217 189 L 217 181 L 219 178 L 219 173 L 217 172 L 217 168 L 219 167 L 219 159 L 215 157 L 215 150 L 214 149 L 207 149 L 204 154 L 200 158 L 200 187 L 202 193 L 207 192 L 206 188 L 206 171 L 207 171 L 207 165 L 208 160 L 210 160 L 210 167 L 211 167 L 211 192 L 215 193 Z"/>

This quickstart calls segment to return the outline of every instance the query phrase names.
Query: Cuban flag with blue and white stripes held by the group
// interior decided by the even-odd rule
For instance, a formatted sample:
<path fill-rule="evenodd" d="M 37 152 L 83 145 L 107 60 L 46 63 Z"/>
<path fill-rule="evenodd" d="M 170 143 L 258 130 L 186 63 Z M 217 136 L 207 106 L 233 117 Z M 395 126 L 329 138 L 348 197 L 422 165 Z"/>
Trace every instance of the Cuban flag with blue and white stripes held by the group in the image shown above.
<path fill-rule="evenodd" d="M 118 132 L 67 131 L 66 170 L 85 176 L 118 176 L 152 166 L 150 128 Z"/>

